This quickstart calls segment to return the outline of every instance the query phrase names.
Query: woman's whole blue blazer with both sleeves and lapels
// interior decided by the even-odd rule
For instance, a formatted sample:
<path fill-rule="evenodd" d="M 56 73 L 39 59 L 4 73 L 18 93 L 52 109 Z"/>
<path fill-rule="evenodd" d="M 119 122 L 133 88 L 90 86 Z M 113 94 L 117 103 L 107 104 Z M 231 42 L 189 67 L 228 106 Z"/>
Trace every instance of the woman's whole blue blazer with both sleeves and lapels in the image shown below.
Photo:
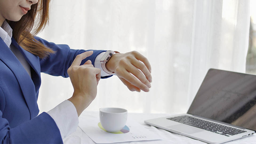
<path fill-rule="evenodd" d="M 0 141 L 1 143 L 63 143 L 53 118 L 45 112 L 39 113 L 37 98 L 41 85 L 40 73 L 69 77 L 67 69 L 74 58 L 85 50 L 73 50 L 68 45 L 56 45 L 35 37 L 56 51 L 48 58 L 24 50 L 12 38 L 12 44 L 21 51 L 31 66 L 31 78 L 13 52 L 0 38 Z M 94 64 L 103 50 L 93 50 L 88 59 Z M 107 77 L 103 77 L 107 78 Z"/>

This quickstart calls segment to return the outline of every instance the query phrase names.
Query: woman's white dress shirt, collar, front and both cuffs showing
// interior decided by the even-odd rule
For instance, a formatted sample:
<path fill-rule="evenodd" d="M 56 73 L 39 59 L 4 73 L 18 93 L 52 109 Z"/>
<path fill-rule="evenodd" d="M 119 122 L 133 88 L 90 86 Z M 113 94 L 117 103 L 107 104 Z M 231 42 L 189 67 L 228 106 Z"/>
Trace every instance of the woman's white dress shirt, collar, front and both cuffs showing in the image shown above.
<path fill-rule="evenodd" d="M 21 54 L 21 52 L 13 45 L 11 45 L 11 37 L 12 37 L 12 29 L 10 25 L 4 21 L 2 26 L 0 27 L 0 37 L 6 43 L 6 45 L 11 49 L 17 59 L 21 62 L 22 66 L 26 69 L 27 73 L 31 77 L 30 65 Z M 100 53 L 94 62 L 94 66 L 101 69 L 101 76 L 108 76 L 109 74 L 103 71 L 100 63 L 101 57 L 105 52 Z M 70 135 L 74 131 L 76 131 L 78 126 L 78 115 L 77 110 L 72 102 L 65 100 L 50 111 L 47 112 L 57 124 L 59 131 L 61 133 L 61 137 L 65 138 Z"/>

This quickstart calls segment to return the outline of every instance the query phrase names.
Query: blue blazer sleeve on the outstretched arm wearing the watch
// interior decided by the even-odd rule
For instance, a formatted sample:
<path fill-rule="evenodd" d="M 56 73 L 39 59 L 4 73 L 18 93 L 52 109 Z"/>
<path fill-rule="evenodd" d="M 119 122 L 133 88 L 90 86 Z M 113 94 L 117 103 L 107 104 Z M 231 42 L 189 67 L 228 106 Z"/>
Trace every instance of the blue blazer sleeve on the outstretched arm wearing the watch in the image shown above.
<path fill-rule="evenodd" d="M 56 45 L 53 42 L 48 42 L 42 38 L 34 37 L 39 42 L 43 43 L 43 45 L 49 47 L 50 49 L 55 51 L 55 54 L 50 54 L 49 57 L 45 59 L 40 59 L 40 66 L 41 72 L 47 73 L 54 76 L 62 76 L 62 77 L 69 77 L 67 74 L 67 69 L 71 66 L 72 62 L 74 61 L 75 57 L 78 54 L 81 54 L 85 51 L 91 50 L 74 50 L 70 49 L 68 45 Z M 93 54 L 90 57 L 87 57 L 81 62 L 83 65 L 87 60 L 91 60 L 93 66 L 95 62 L 95 58 L 102 52 L 106 50 L 93 50 Z M 111 77 L 101 77 L 101 78 L 108 78 Z"/>

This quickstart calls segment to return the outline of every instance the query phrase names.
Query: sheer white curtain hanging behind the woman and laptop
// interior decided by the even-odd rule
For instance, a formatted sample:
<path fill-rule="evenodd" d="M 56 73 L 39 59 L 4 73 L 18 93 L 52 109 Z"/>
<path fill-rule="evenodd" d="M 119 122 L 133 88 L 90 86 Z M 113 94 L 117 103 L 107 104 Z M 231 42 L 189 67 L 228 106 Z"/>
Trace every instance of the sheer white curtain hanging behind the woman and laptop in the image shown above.
<path fill-rule="evenodd" d="M 54 0 L 38 36 L 72 49 L 136 50 L 152 67 L 150 92 L 101 79 L 86 110 L 186 113 L 209 68 L 245 72 L 249 0 Z M 48 111 L 73 94 L 69 78 L 42 73 L 38 105 Z"/>

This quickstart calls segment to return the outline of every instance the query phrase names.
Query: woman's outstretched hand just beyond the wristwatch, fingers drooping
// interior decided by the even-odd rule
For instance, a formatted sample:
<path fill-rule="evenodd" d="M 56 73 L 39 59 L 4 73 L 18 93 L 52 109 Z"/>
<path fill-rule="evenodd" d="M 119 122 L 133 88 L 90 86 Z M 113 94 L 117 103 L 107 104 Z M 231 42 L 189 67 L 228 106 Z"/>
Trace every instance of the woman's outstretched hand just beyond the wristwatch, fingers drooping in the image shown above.
<path fill-rule="evenodd" d="M 137 51 L 114 54 L 106 63 L 106 68 L 115 72 L 130 91 L 148 92 L 151 87 L 151 66 L 147 58 Z"/>

